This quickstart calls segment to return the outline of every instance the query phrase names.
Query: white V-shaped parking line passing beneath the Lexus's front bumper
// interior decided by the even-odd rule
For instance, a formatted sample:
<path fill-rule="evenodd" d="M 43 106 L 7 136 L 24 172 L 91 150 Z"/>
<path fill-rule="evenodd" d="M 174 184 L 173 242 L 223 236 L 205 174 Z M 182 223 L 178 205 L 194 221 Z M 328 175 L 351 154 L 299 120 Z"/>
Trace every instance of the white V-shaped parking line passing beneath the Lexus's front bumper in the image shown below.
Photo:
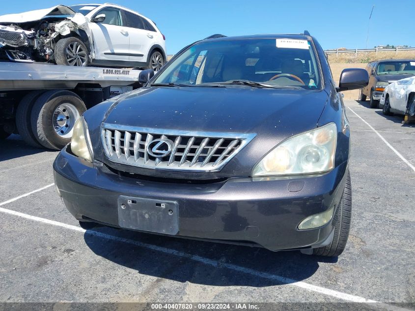
<path fill-rule="evenodd" d="M 47 188 L 49 188 L 53 185 L 54 184 L 50 184 L 50 185 L 47 185 L 45 187 L 39 188 L 37 190 L 28 192 L 27 194 L 24 194 L 22 196 L 4 201 L 4 202 L 0 203 L 0 206 L 5 205 L 7 203 L 14 202 L 14 201 L 18 200 L 19 198 L 27 197 L 27 196 L 29 196 L 33 193 L 42 191 L 42 190 L 47 189 Z M 22 218 L 29 219 L 29 220 L 32 220 L 32 221 L 48 224 L 48 225 L 59 226 L 59 227 L 63 227 L 63 228 L 66 228 L 66 229 L 70 229 L 70 230 L 74 230 L 74 231 L 78 231 L 78 232 L 83 232 L 83 233 L 86 233 L 86 234 L 94 235 L 94 236 L 101 237 L 101 238 L 108 239 L 108 240 L 113 240 L 113 241 L 116 241 L 116 242 L 131 244 L 131 245 L 134 245 L 134 246 L 146 248 L 146 249 L 153 250 L 153 251 L 156 251 L 156 252 L 162 252 L 162 253 L 165 253 L 165 254 L 171 254 L 171 255 L 191 259 L 191 260 L 201 262 L 203 264 L 214 266 L 214 267 L 224 267 L 224 268 L 227 268 L 229 270 L 249 274 L 249 275 L 252 275 L 254 277 L 273 280 L 273 281 L 277 281 L 279 283 L 284 283 L 284 284 L 291 285 L 291 286 L 297 286 L 297 287 L 300 287 L 300 288 L 303 288 L 303 289 L 306 289 L 306 290 L 309 290 L 309 291 L 321 293 L 321 294 L 324 294 L 324 295 L 332 296 L 332 297 L 339 298 L 339 299 L 346 300 L 346 301 L 350 301 L 350 302 L 376 304 L 377 307 L 385 308 L 387 310 L 408 310 L 408 309 L 404 309 L 404 308 L 391 306 L 391 305 L 388 305 L 388 304 L 385 304 L 385 303 L 380 303 L 376 300 L 366 299 L 366 298 L 363 298 L 363 297 L 360 297 L 360 296 L 342 293 L 342 292 L 332 290 L 332 289 L 329 289 L 329 288 L 325 288 L 325 287 L 321 287 L 321 286 L 317 286 L 317 285 L 312 285 L 312 284 L 308 284 L 308 283 L 305 283 L 305 282 L 299 282 L 299 281 L 296 281 L 296 280 L 293 280 L 293 279 L 281 277 L 281 276 L 270 274 L 270 273 L 256 271 L 256 270 L 253 270 L 253 269 L 249 269 L 249 268 L 246 268 L 246 267 L 241 267 L 241 266 L 234 265 L 234 264 L 231 264 L 231 263 L 222 263 L 222 262 L 219 262 L 218 260 L 213 260 L 213 259 L 209 259 L 209 258 L 206 258 L 206 257 L 198 256 L 198 255 L 187 254 L 187 253 L 183 253 L 183 252 L 180 252 L 180 251 L 177 251 L 177 250 L 168 249 L 168 248 L 161 247 L 161 246 L 146 244 L 146 243 L 134 241 L 134 240 L 131 240 L 131 239 L 126 239 L 126 238 L 122 238 L 122 237 L 118 237 L 118 236 L 113 236 L 111 234 L 106 234 L 106 233 L 97 232 L 97 231 L 93 231 L 93 230 L 84 230 L 83 228 L 81 228 L 79 226 L 73 226 L 73 225 L 68 225 L 68 224 L 64 224 L 64 223 L 61 223 L 61 222 L 56 222 L 54 220 L 28 215 L 28 214 L 25 214 L 25 213 L 13 211 L 13 210 L 6 209 L 6 208 L 3 208 L 3 207 L 0 207 L 0 212 L 6 213 L 6 214 L 9 214 L 9 215 L 22 217 Z"/>

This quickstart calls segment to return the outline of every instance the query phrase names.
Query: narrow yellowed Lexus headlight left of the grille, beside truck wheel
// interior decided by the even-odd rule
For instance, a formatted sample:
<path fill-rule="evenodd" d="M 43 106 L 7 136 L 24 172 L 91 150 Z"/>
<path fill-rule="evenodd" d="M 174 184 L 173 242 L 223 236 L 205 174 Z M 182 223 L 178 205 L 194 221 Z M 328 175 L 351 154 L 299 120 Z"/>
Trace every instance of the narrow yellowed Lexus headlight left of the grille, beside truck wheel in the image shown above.
<path fill-rule="evenodd" d="M 74 125 L 71 140 L 72 153 L 86 161 L 92 162 L 92 149 L 89 147 L 89 134 L 86 122 L 80 117 Z"/>

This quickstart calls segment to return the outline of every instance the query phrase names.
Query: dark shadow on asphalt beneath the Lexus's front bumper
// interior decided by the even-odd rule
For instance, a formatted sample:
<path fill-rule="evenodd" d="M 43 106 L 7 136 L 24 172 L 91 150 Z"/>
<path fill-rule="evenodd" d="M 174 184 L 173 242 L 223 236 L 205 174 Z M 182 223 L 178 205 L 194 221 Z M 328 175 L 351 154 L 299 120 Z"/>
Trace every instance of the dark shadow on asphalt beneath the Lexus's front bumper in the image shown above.
<path fill-rule="evenodd" d="M 263 287 L 278 285 L 281 282 L 228 269 L 221 266 L 221 263 L 302 281 L 317 271 L 319 262 L 337 262 L 337 257 L 310 256 L 301 254 L 299 251 L 271 252 L 256 247 L 195 241 L 107 227 L 93 230 L 186 254 L 183 256 L 149 250 L 145 247 L 99 237 L 91 231 L 86 231 L 84 234 L 86 244 L 95 254 L 121 266 L 137 270 L 140 274 L 177 282 Z M 190 256 L 215 260 L 218 265 L 205 264 L 189 258 Z"/>

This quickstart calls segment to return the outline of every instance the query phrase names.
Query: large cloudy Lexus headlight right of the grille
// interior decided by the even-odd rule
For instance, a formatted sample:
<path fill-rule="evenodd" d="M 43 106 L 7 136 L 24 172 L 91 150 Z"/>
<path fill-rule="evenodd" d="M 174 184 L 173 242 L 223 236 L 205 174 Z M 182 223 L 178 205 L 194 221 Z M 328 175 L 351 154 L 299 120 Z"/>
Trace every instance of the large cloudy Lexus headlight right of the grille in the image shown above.
<path fill-rule="evenodd" d="M 252 176 L 322 173 L 334 167 L 337 127 L 329 123 L 281 142 L 253 168 Z"/>

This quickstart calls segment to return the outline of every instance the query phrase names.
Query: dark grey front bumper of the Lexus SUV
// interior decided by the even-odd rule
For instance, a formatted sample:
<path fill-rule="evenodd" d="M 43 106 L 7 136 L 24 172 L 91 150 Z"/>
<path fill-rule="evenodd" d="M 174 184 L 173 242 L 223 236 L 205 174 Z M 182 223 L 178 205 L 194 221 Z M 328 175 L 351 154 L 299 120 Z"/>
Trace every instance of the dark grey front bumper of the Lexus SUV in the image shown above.
<path fill-rule="evenodd" d="M 78 220 L 119 227 L 120 196 L 175 201 L 177 236 L 279 251 L 331 242 L 333 219 L 316 229 L 297 227 L 304 218 L 337 207 L 347 166 L 345 162 L 329 173 L 306 178 L 229 178 L 188 184 L 120 175 L 100 162 L 70 154 L 65 147 L 55 159 L 54 176 L 66 208 Z"/>

